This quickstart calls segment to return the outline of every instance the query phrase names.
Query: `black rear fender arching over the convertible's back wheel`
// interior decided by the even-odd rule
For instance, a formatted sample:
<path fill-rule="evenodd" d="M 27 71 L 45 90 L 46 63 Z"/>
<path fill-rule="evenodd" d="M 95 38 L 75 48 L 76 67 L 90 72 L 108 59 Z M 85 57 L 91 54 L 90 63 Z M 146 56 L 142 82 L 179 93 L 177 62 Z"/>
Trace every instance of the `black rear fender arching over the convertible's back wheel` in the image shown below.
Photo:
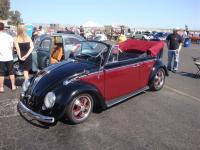
<path fill-rule="evenodd" d="M 150 73 L 150 76 L 149 76 L 149 83 L 151 83 L 152 79 L 156 75 L 156 72 L 158 71 L 159 68 L 163 68 L 165 70 L 165 75 L 169 76 L 167 67 L 164 65 L 164 63 L 160 59 L 157 59 L 156 63 L 154 64 L 154 66 L 151 70 L 151 73 Z"/>

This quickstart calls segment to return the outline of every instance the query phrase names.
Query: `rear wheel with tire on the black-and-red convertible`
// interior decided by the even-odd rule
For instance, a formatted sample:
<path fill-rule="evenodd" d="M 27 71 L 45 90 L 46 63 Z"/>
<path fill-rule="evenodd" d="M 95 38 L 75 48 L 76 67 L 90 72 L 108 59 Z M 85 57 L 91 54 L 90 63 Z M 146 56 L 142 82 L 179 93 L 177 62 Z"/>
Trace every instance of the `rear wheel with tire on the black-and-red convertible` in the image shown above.
<path fill-rule="evenodd" d="M 153 91 L 159 91 L 165 84 L 165 70 L 159 68 L 150 83 L 150 89 Z"/>

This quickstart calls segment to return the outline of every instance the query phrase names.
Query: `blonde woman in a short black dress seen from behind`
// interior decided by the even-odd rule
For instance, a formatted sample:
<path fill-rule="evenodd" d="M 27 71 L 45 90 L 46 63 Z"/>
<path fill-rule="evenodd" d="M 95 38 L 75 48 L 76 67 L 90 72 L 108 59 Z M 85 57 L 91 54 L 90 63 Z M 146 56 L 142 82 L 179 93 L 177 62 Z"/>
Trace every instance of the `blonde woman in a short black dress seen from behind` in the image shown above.
<path fill-rule="evenodd" d="M 26 34 L 26 28 L 24 25 L 17 27 L 17 36 L 14 40 L 17 55 L 19 58 L 20 68 L 23 70 L 24 79 L 29 79 L 29 70 L 32 68 L 32 51 L 33 42 L 31 38 Z"/>

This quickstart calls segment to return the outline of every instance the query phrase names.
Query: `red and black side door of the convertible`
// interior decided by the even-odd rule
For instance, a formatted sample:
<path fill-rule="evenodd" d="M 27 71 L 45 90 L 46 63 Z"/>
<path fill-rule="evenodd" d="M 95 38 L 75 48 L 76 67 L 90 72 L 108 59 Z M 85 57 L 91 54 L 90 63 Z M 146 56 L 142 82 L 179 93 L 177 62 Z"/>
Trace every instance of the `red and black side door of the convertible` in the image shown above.
<path fill-rule="evenodd" d="M 112 57 L 112 52 L 109 57 Z M 110 101 L 131 94 L 139 89 L 139 68 L 137 60 L 116 60 L 109 58 L 104 67 L 105 99 Z"/>

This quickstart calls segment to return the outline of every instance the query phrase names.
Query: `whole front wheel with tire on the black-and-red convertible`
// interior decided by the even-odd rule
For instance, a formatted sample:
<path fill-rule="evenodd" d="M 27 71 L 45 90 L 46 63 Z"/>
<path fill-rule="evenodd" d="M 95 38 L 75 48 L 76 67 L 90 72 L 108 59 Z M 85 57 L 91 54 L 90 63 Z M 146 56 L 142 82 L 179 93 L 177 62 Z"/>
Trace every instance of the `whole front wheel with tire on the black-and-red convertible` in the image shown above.
<path fill-rule="evenodd" d="M 73 124 L 84 122 L 90 116 L 93 104 L 93 98 L 89 94 L 76 96 L 67 107 L 67 119 Z"/>

